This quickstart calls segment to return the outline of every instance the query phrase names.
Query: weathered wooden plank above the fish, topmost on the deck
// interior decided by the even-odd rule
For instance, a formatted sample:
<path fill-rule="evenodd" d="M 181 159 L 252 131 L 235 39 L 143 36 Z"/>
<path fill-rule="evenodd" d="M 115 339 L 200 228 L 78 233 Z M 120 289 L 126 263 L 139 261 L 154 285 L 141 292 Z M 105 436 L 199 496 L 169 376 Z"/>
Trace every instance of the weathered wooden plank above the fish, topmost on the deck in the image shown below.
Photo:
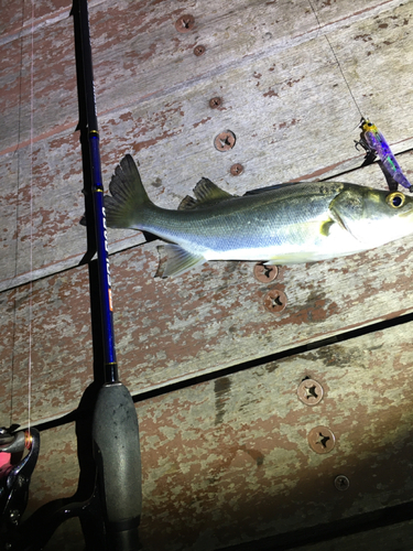
<path fill-rule="evenodd" d="M 275 42 L 256 44 L 253 41 L 250 45 L 251 55 L 246 53 L 243 57 L 238 42 L 236 45 L 231 43 L 233 36 L 228 37 L 224 26 L 218 26 L 221 32 L 213 32 L 213 26 L 208 26 L 220 21 L 221 13 L 217 11 L 216 20 L 209 21 L 203 32 L 205 36 L 207 32 L 214 36 L 214 52 L 218 47 L 227 52 L 226 60 L 222 54 L 213 55 L 208 52 L 205 56 L 196 57 L 191 48 L 184 48 L 185 54 L 181 54 L 177 48 L 178 53 L 173 54 L 169 50 L 172 45 L 164 51 L 165 44 L 162 42 L 160 55 L 148 57 L 139 65 L 140 71 L 148 73 L 148 78 L 138 87 L 135 83 L 142 80 L 141 74 L 135 74 L 134 68 L 130 69 L 132 74 L 127 72 L 123 77 L 113 74 L 115 61 L 106 56 L 115 54 L 109 53 L 111 50 L 105 46 L 101 39 L 96 39 L 106 184 L 116 163 L 126 152 L 132 152 L 141 161 L 142 176 L 150 195 L 161 206 L 177 204 L 178 198 L 186 195 L 202 175 L 207 175 L 228 191 L 243 193 L 248 188 L 274 182 L 311 180 L 332 174 L 332 171 L 337 173 L 341 166 L 348 168 L 349 162 L 351 166 L 361 163 L 361 155 L 354 149 L 359 114 L 324 32 L 330 35 L 360 107 L 374 116 L 390 143 L 400 142 L 399 150 L 410 147 L 412 136 L 409 129 L 412 125 L 409 117 L 413 111 L 409 108 L 411 72 L 407 66 L 412 60 L 410 31 L 405 22 L 412 15 L 412 6 L 399 6 L 398 2 L 368 6 L 366 11 L 357 11 L 354 3 L 345 3 L 343 13 L 324 12 L 320 8 L 320 20 L 328 23 L 322 30 L 314 26 L 314 21 L 309 24 L 314 14 L 311 15 L 308 7 L 307 10 L 298 10 L 305 18 L 301 22 L 303 30 L 308 29 L 303 36 L 293 40 L 290 34 L 296 34 L 296 30 L 294 25 L 289 26 L 289 22 L 297 13 L 295 7 L 292 11 L 292 6 L 285 4 L 286 23 L 282 23 L 281 35 L 275 36 L 274 33 Z M 94 29 L 99 36 L 105 36 L 105 8 L 106 4 L 94 7 L 97 10 Z M 118 8 L 119 13 L 115 9 L 117 17 L 124 18 L 126 12 L 122 10 L 126 4 L 119 4 Z M 152 8 L 161 10 L 162 6 Z M 254 18 L 267 14 L 261 8 L 257 9 Z M 270 19 L 265 18 L 267 24 L 272 21 L 272 17 L 279 18 L 276 10 L 265 9 L 270 10 Z M 176 13 L 173 13 L 175 18 Z M 219 24 L 238 25 L 239 21 L 249 20 L 251 13 L 256 13 L 256 9 L 252 12 L 247 8 L 229 10 L 225 22 Z M 152 21 L 139 10 L 131 17 Z M 248 33 L 256 36 L 250 24 L 257 21 L 240 25 L 247 33 L 239 34 L 240 42 L 242 39 L 248 43 Z M 155 25 L 153 21 L 151 24 Z M 149 32 L 151 40 L 157 40 L 167 29 L 163 40 L 170 40 L 172 44 L 173 36 L 180 34 L 172 22 L 157 24 L 159 30 L 153 30 L 153 36 Z M 142 52 L 143 46 L 139 43 L 132 48 L 133 40 L 138 39 L 132 37 L 135 28 L 131 21 L 128 29 L 124 37 L 127 42 L 113 47 L 134 52 L 139 57 L 141 54 L 137 52 Z M 3 104 L 7 119 L 0 182 L 2 188 L 7 188 L 7 196 L 1 210 L 0 230 L 4 236 L 4 253 L 0 259 L 0 289 L 76 266 L 85 252 L 85 230 L 78 225 L 83 215 L 83 195 L 78 134 L 74 133 L 77 107 L 72 32 L 72 22 L 58 20 L 53 25 L 40 26 L 35 36 L 35 52 L 39 55 L 50 51 L 52 44 L 54 47 L 59 44 L 65 57 L 53 61 L 58 64 L 58 71 L 54 71 L 54 65 L 47 67 L 53 78 L 46 78 L 42 65 L 35 65 L 35 144 L 31 156 L 30 145 L 25 144 L 30 134 L 30 79 L 26 75 L 29 39 L 25 37 L 23 42 L 22 67 L 25 76 L 20 83 L 20 50 L 15 40 L 1 46 L 13 48 L 10 55 L 4 56 L 9 69 L 3 77 L 3 83 L 4 79 L 7 83 L 8 78 L 12 79 L 13 86 L 4 85 L 9 91 L 4 94 Z M 219 42 L 219 39 L 224 42 Z M 180 34 L 178 44 L 181 41 L 189 41 L 189 37 Z M 228 51 L 228 44 L 231 44 L 233 52 L 231 48 Z M 402 57 L 399 55 L 401 48 L 405 51 Z M 236 62 L 235 52 L 238 52 Z M 176 66 L 171 63 L 173 55 L 176 56 Z M 193 78 L 187 79 L 187 73 L 183 75 L 177 68 L 182 63 L 186 64 Z M 166 65 L 171 78 L 170 73 L 165 73 Z M 393 74 L 402 75 L 405 82 L 405 86 L 398 89 L 396 97 L 394 78 L 389 77 Z M 157 84 L 153 82 L 154 78 Z M 167 86 L 161 89 L 160 79 L 167 82 Z M 66 83 L 65 94 L 59 87 L 62 80 Z M 109 85 L 109 82 L 113 85 Z M 127 86 L 124 83 L 128 83 Z M 133 97 L 128 99 L 118 86 Z M 224 105 L 221 109 L 213 110 L 208 101 L 216 95 L 222 96 Z M 399 104 L 404 106 L 403 109 L 399 108 Z M 17 126 L 19 109 L 22 122 Z M 213 141 L 226 128 L 235 131 L 237 143 L 232 151 L 222 154 L 215 150 Z M 13 152 L 15 148 L 20 148 L 18 154 Z M 238 177 L 229 174 L 230 166 L 236 162 L 244 166 L 243 174 Z M 130 231 L 113 231 L 110 239 L 112 251 L 142 242 L 140 234 Z"/>

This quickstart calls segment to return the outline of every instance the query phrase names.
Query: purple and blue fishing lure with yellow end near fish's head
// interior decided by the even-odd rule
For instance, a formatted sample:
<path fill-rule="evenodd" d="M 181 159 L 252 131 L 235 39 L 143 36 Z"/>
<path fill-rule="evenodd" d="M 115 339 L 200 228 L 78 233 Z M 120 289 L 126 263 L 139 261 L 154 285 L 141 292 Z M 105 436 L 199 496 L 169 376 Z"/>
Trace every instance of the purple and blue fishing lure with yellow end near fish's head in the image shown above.
<path fill-rule="evenodd" d="M 360 128 L 360 141 L 356 142 L 356 148 L 357 145 L 361 145 L 367 152 L 363 165 L 372 163 L 376 156 L 379 156 L 379 166 L 383 171 L 389 190 L 396 191 L 398 184 L 400 184 L 412 193 L 412 184 L 403 174 L 390 145 L 377 126 L 368 119 L 361 118 Z"/>

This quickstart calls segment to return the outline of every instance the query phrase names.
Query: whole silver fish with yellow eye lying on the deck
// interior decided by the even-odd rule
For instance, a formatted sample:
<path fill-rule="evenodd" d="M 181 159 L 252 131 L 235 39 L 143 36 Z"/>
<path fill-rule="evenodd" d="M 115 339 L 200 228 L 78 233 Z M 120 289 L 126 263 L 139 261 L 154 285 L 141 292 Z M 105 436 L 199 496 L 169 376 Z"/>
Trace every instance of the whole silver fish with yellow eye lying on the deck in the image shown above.
<path fill-rule="evenodd" d="M 166 241 L 155 277 L 210 260 L 295 264 L 372 249 L 413 233 L 413 198 L 343 182 L 298 182 L 242 196 L 203 177 L 177 209 L 156 206 L 127 154 L 105 196 L 107 226 Z"/>

